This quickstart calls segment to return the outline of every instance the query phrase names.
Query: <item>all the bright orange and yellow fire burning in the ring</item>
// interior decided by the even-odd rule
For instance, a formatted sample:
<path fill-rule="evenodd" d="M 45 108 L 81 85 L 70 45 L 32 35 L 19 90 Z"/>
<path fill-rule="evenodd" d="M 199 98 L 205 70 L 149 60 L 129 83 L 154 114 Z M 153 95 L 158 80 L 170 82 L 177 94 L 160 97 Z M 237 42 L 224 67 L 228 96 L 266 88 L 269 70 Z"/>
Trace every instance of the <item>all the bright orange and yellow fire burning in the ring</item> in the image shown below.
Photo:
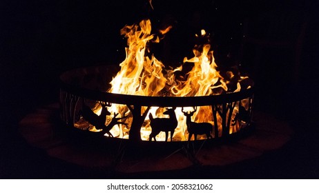
<path fill-rule="evenodd" d="M 193 49 L 194 57 L 184 59 L 184 63 L 193 63 L 193 69 L 185 74 L 182 80 L 175 77 L 175 72 L 182 71 L 182 65 L 170 70 L 165 69 L 165 65 L 151 54 L 151 50 L 148 49 L 148 43 L 158 43 L 160 35 L 162 37 L 170 29 L 171 26 L 160 30 L 158 34 L 151 34 L 151 21 L 148 19 L 141 21 L 139 25 L 134 24 L 122 28 L 121 34 L 127 38 L 128 43 L 128 47 L 125 48 L 126 58 L 119 64 L 121 69 L 110 82 L 111 88 L 108 92 L 142 96 L 208 96 L 228 91 L 227 83 L 229 81 L 226 81 L 220 75 L 220 72 L 216 70 L 217 65 L 209 43 L 195 45 Z M 206 32 L 202 30 L 200 36 L 204 37 L 205 35 Z M 196 36 L 198 37 L 198 35 Z M 234 76 L 232 73 L 228 72 L 231 78 Z M 240 83 L 237 84 L 235 92 L 239 90 Z M 146 108 L 142 107 L 142 112 Z M 164 108 L 151 107 L 148 111 L 141 128 L 142 140 L 148 140 L 152 131 L 149 114 L 157 118 L 167 118 L 168 116 L 163 114 L 164 110 Z M 193 110 L 193 107 L 184 107 L 184 112 Z M 119 112 L 119 114 L 126 115 L 131 113 L 126 105 L 118 104 L 113 104 L 110 107 L 110 112 L 112 114 L 113 112 Z M 189 134 L 187 132 L 186 117 L 182 113 L 182 108 L 176 108 L 175 114 L 178 125 L 174 132 L 173 141 L 185 141 Z M 211 106 L 202 106 L 197 108 L 195 114 L 191 116 L 191 121 L 207 122 L 213 125 L 213 121 L 209 119 L 211 117 Z M 128 116 L 126 122 L 130 123 L 131 119 L 132 117 Z M 221 130 L 221 128 L 218 129 Z M 232 128 L 230 132 L 235 130 L 235 128 Z M 126 125 L 115 125 L 110 132 L 113 136 L 128 139 Z M 164 141 L 165 133 L 158 134 L 156 140 Z"/>

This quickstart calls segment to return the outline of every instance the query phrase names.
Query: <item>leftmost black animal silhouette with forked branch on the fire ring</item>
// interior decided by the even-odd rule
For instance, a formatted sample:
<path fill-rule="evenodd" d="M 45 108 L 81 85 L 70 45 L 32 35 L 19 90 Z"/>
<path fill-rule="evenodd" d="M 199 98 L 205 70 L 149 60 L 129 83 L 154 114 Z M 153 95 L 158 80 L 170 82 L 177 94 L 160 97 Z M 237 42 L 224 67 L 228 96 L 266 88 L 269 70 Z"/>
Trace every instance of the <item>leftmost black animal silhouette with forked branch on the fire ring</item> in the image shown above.
<path fill-rule="evenodd" d="M 102 130 L 101 134 L 104 135 L 107 133 L 108 136 L 113 137 L 113 134 L 110 133 L 110 130 L 113 128 L 114 125 L 118 125 L 118 124 L 123 124 L 127 126 L 127 123 L 119 121 L 120 119 L 125 119 L 127 116 L 116 118 L 116 116 L 119 113 L 114 112 L 113 118 L 111 119 L 110 123 L 108 123 L 108 125 L 105 125 L 106 116 L 110 115 L 110 112 L 108 111 L 107 108 L 110 107 L 111 104 L 108 102 L 103 102 L 103 101 L 101 101 L 100 104 L 102 107 L 101 114 L 97 115 L 83 101 L 81 114 L 84 117 L 84 119 L 86 119 L 86 121 L 88 121 L 91 125 L 94 125 L 97 130 Z"/>

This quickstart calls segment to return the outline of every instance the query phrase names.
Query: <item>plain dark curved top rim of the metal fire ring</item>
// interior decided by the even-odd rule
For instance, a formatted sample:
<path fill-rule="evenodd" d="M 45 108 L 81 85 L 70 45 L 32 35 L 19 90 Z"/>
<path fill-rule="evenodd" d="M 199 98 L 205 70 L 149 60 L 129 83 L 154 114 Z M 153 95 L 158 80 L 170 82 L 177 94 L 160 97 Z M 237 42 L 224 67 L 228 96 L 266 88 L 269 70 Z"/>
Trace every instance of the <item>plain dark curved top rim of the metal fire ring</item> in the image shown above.
<path fill-rule="evenodd" d="M 114 68 L 110 65 L 107 68 Z M 87 70 L 95 67 L 88 68 L 77 68 L 75 70 Z M 127 104 L 127 105 L 140 105 L 140 106 L 159 106 L 159 107 L 185 107 L 185 106 L 204 106 L 220 103 L 229 103 L 233 101 L 238 101 L 240 99 L 245 99 L 253 95 L 254 88 L 246 90 L 240 90 L 239 92 L 232 92 L 219 95 L 209 95 L 209 96 L 140 96 L 140 95 L 129 95 L 129 94 L 115 94 L 110 92 L 103 92 L 100 90 L 92 90 L 88 88 L 83 88 L 78 85 L 72 85 L 71 83 L 66 83 L 63 77 L 66 74 L 74 72 L 74 70 L 69 70 L 61 74 L 60 76 L 60 88 L 69 93 L 76 94 L 77 96 L 82 96 L 87 99 L 92 99 L 96 101 L 108 101 L 110 103 Z"/>

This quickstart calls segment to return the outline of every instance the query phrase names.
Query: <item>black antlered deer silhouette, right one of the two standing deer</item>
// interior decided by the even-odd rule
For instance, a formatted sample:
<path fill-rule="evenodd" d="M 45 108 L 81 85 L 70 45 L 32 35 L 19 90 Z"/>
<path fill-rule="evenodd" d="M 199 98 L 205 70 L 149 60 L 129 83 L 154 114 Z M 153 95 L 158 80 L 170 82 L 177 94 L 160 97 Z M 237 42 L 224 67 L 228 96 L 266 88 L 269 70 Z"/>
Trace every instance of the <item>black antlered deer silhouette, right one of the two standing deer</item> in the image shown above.
<path fill-rule="evenodd" d="M 189 131 L 189 141 L 191 137 L 194 135 L 194 140 L 197 140 L 197 134 L 206 134 L 207 139 L 212 139 L 211 132 L 213 132 L 213 125 L 211 123 L 195 123 L 191 121 L 191 116 L 196 112 L 197 108 L 194 107 L 194 110 L 191 112 L 184 112 L 184 108 L 182 108 L 182 112 L 184 116 L 186 116 L 186 125 L 187 130 Z"/>

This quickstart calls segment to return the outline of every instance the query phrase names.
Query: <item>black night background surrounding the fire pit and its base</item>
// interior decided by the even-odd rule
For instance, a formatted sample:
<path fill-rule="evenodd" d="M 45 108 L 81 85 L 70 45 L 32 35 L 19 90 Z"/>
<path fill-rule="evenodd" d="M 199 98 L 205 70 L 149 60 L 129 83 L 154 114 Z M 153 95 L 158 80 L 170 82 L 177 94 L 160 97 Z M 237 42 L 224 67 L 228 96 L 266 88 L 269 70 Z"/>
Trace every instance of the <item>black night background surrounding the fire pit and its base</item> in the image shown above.
<path fill-rule="evenodd" d="M 126 41 L 119 30 L 146 18 L 153 28 L 173 26 L 162 43 L 152 45 L 155 57 L 170 65 L 191 56 L 195 33 L 202 28 L 210 32 L 218 65 L 225 69 L 238 65 L 255 80 L 255 110 L 287 121 L 296 134 L 280 150 L 229 167 L 130 177 L 318 178 L 319 2 L 153 0 L 153 7 L 142 0 L 0 1 L 0 178 L 124 177 L 52 159 L 23 141 L 17 128 L 32 110 L 58 101 L 61 72 L 123 61 Z M 299 79 L 293 76 L 295 54 L 291 49 L 242 47 L 247 30 L 263 35 L 262 25 L 253 21 L 264 13 L 284 10 L 301 12 L 298 18 L 307 22 Z M 244 27 L 247 23 L 249 28 Z M 300 31 L 290 32 L 278 38 L 296 37 Z M 200 173 L 204 170 L 212 172 Z"/>

